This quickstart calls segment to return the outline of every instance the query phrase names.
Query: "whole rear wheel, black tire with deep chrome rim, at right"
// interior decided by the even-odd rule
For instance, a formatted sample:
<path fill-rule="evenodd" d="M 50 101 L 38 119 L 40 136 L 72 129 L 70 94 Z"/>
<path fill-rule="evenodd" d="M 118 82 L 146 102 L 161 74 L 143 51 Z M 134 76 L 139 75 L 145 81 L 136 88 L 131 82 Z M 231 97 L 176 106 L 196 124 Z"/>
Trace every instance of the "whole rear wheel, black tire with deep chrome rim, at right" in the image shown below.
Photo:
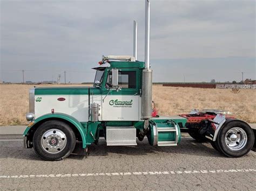
<path fill-rule="evenodd" d="M 219 150 L 227 157 L 242 157 L 250 152 L 253 144 L 253 130 L 242 121 L 228 122 L 217 137 Z"/>

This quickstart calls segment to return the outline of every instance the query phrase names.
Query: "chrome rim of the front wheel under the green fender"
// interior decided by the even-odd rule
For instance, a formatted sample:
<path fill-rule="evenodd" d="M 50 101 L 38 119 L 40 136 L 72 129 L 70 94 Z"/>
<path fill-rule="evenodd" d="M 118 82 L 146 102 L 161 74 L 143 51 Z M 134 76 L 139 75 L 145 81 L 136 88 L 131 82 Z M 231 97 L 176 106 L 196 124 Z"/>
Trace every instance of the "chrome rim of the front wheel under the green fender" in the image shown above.
<path fill-rule="evenodd" d="M 41 137 L 41 145 L 48 153 L 59 153 L 66 146 L 66 135 L 59 129 L 50 129 Z"/>

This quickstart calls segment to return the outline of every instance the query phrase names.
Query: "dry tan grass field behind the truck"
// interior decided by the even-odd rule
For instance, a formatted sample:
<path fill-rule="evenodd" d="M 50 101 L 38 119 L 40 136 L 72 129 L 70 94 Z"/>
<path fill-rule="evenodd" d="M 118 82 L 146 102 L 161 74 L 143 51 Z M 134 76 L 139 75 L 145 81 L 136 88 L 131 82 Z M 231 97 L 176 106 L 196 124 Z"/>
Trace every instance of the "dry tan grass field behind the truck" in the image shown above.
<path fill-rule="evenodd" d="M 31 87 L 33 86 L 0 84 L 0 125 L 28 124 L 25 113 L 29 109 L 28 93 Z M 184 114 L 190 112 L 191 109 L 223 109 L 233 112 L 235 116 L 248 123 L 255 123 L 255 97 L 256 90 L 253 89 L 241 89 L 238 94 L 234 94 L 230 89 L 153 86 L 153 100 L 156 103 L 159 115 Z"/>

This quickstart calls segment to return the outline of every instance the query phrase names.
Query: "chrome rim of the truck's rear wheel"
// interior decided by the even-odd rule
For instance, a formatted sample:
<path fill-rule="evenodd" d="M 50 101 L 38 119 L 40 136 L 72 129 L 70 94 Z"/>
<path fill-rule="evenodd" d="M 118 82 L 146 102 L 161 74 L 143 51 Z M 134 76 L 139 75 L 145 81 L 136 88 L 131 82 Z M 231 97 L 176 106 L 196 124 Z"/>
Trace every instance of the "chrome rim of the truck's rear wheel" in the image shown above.
<path fill-rule="evenodd" d="M 242 128 L 231 128 L 225 135 L 225 143 L 233 151 L 241 150 L 247 143 L 247 134 Z"/>

